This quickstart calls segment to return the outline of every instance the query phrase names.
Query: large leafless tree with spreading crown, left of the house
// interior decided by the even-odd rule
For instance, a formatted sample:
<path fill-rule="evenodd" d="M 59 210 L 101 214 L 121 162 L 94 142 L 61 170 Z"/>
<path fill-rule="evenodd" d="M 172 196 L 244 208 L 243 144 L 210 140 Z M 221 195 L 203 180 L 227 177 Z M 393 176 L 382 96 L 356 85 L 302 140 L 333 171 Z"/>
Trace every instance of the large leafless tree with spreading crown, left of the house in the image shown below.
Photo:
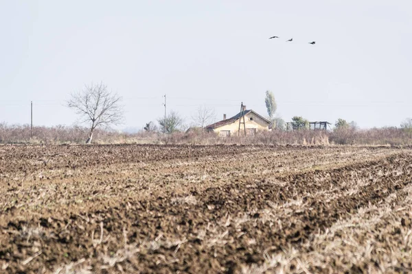
<path fill-rule="evenodd" d="M 100 84 L 84 85 L 80 92 L 73 92 L 67 106 L 73 108 L 80 116 L 81 123 L 89 125 L 89 138 L 86 143 L 91 143 L 93 131 L 98 127 L 117 125 L 123 119 L 122 97 L 107 90 L 107 86 Z"/>

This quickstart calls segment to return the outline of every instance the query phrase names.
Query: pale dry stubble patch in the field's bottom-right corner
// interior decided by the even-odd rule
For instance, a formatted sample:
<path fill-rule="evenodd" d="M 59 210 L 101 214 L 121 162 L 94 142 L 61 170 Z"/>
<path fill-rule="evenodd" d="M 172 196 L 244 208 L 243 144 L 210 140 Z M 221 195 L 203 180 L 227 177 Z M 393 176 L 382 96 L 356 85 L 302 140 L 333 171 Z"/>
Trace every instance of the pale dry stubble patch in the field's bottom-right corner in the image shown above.
<path fill-rule="evenodd" d="M 402 200 L 392 194 L 378 206 L 359 208 L 325 232 L 313 234 L 300 249 L 264 253 L 264 264 L 243 266 L 242 273 L 351 273 L 357 267 L 368 273 L 411 272 L 412 186 L 398 193 L 402 194 Z"/>

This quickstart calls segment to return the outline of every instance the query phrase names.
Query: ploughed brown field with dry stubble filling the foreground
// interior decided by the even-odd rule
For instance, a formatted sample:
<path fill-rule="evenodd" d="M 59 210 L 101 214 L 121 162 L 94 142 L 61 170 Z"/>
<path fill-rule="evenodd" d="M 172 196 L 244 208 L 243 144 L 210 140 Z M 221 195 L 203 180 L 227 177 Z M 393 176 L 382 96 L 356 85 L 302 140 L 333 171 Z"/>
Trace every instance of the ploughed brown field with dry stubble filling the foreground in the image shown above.
<path fill-rule="evenodd" d="M 412 271 L 412 149 L 0 146 L 1 273 Z"/>

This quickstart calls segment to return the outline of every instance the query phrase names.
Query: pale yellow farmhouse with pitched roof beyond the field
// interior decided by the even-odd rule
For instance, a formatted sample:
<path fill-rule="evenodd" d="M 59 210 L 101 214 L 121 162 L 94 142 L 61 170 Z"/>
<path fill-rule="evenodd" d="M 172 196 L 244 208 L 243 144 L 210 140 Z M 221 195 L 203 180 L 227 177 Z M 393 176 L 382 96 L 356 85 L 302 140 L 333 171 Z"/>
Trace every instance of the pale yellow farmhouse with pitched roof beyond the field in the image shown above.
<path fill-rule="evenodd" d="M 240 134 L 244 134 L 244 129 L 246 128 L 247 135 L 254 135 L 256 132 L 268 131 L 271 121 L 260 116 L 253 110 L 247 110 L 246 105 L 243 105 L 243 115 L 239 112 L 235 116 L 226 119 L 226 114 L 223 114 L 223 120 L 217 123 L 208 125 L 206 130 L 208 132 L 216 132 L 219 136 L 233 136 L 238 135 L 239 124 L 240 124 Z"/>

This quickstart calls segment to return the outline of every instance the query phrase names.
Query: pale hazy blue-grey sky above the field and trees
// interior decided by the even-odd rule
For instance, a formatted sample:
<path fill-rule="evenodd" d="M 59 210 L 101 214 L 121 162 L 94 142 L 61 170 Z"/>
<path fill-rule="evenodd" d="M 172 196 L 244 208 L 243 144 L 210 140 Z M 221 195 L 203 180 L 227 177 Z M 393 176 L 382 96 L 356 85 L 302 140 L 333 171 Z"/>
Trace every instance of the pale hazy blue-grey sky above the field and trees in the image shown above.
<path fill-rule="evenodd" d="M 76 125 L 65 101 L 99 82 L 123 98 L 117 129 L 157 121 L 163 95 L 187 125 L 201 106 L 266 115 L 266 90 L 285 121 L 412 117 L 410 0 L 0 0 L 0 38 L 0 123 L 30 123 L 33 101 L 34 125 Z"/>

